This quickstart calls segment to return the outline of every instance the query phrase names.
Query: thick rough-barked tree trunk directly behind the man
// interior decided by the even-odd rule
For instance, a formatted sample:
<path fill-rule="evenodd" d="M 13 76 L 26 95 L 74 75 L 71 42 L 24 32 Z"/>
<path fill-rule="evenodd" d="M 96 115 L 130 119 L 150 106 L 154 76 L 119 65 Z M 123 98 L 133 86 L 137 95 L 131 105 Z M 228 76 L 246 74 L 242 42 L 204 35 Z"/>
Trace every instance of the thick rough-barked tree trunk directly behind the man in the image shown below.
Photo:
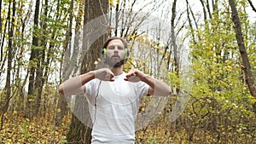
<path fill-rule="evenodd" d="M 90 21 L 94 20 L 99 16 L 102 16 L 103 14 L 107 14 L 108 12 L 108 0 L 85 0 L 84 1 L 84 26 Z M 106 18 L 108 19 L 108 18 Z M 108 25 L 105 23 L 105 21 L 102 21 L 103 25 Z M 97 23 L 97 26 L 93 26 L 93 31 L 96 31 L 96 28 L 102 27 L 102 23 Z M 84 37 L 87 34 L 85 32 L 84 27 Z M 89 72 L 91 70 L 95 70 L 96 65 L 94 64 L 94 61 L 97 60 L 101 56 L 102 51 L 102 45 L 104 41 L 106 40 L 107 34 L 102 35 L 102 37 L 99 37 L 90 48 L 86 48 L 87 45 L 90 43 L 86 43 L 87 41 L 90 41 L 90 39 L 84 39 L 83 43 L 83 49 L 88 49 L 86 51 L 86 55 L 84 56 L 83 60 L 83 66 L 82 66 L 82 73 Z M 90 37 L 88 37 L 90 38 Z M 90 45 L 90 44 L 89 44 Z M 90 117 L 89 109 L 88 109 L 88 102 L 86 101 L 86 98 L 84 96 L 77 96 L 75 101 L 75 109 L 83 112 L 85 115 L 80 116 L 79 118 L 83 118 L 83 122 L 79 120 L 74 114 L 72 118 L 72 122 L 70 125 L 70 130 L 67 135 L 67 141 L 72 143 L 90 143 L 90 127 L 86 124 L 90 123 Z M 87 113 L 87 114 L 86 114 Z M 86 123 L 86 124 L 85 124 Z"/>

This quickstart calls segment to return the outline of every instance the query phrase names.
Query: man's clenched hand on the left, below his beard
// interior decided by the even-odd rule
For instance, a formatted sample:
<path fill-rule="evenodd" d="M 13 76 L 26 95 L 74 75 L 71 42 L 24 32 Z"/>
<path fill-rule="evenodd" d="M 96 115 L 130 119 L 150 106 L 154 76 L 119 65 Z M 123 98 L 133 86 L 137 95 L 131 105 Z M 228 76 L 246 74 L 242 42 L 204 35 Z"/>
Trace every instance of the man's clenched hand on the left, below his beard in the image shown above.
<path fill-rule="evenodd" d="M 102 68 L 99 70 L 94 71 L 95 78 L 98 78 L 102 81 L 114 81 L 113 79 L 113 72 L 111 72 L 108 68 Z"/>

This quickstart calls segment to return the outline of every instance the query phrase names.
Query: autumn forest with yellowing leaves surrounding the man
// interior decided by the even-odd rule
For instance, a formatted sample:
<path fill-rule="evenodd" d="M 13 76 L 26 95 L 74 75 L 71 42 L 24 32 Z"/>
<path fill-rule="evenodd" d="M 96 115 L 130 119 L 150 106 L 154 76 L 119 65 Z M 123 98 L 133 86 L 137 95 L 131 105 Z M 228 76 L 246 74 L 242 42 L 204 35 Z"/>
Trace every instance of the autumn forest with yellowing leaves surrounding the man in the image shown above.
<path fill-rule="evenodd" d="M 172 88 L 144 96 L 137 144 L 256 144 L 254 0 L 1 0 L 0 143 L 90 143 L 65 80 L 124 37 L 135 67 Z"/>

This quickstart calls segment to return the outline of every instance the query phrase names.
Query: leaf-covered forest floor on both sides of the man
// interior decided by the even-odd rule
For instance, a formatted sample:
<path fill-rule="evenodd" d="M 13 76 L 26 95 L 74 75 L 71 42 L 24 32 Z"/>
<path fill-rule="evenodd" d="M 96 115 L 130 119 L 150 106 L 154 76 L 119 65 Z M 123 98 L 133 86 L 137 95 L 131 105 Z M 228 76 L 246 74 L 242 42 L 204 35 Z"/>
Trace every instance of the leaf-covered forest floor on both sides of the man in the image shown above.
<path fill-rule="evenodd" d="M 54 113 L 54 112 L 52 112 Z M 69 130 L 71 114 L 63 118 L 61 126 L 55 126 L 54 115 L 47 113 L 38 115 L 29 120 L 24 118 L 20 112 L 6 113 L 3 116 L 3 127 L 0 131 L 0 144 L 61 144 L 67 143 L 66 135 Z M 156 119 L 157 120 L 157 119 Z M 0 123 L 2 125 L 2 122 Z M 171 131 L 172 130 L 172 131 Z M 204 137 L 201 137 L 204 135 Z M 210 132 L 198 131 L 194 141 L 188 140 L 185 130 L 175 130 L 167 121 L 154 122 L 144 130 L 136 133 L 137 144 L 195 144 L 195 143 L 216 143 Z M 239 140 L 239 138 L 237 139 Z M 218 141 L 217 143 L 219 143 Z M 240 137 L 238 143 L 252 143 Z M 222 143 L 222 142 L 220 142 Z M 234 143 L 226 140 L 225 143 Z M 235 142 L 236 143 L 236 142 Z M 256 144 L 256 140 L 255 143 Z"/>

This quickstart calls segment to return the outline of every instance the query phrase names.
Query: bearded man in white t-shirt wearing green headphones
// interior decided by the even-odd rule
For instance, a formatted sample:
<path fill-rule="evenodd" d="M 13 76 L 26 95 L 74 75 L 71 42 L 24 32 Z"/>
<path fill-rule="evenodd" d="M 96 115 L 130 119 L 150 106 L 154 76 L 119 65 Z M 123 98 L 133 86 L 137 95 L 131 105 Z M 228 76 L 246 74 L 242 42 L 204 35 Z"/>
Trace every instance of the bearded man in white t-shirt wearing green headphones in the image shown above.
<path fill-rule="evenodd" d="M 129 55 L 127 43 L 121 37 L 110 37 L 103 45 L 106 68 L 68 79 L 60 85 L 64 95 L 85 94 L 93 123 L 93 144 L 134 143 L 135 120 L 143 95 L 167 96 L 170 87 L 137 69 L 123 72 Z"/>

